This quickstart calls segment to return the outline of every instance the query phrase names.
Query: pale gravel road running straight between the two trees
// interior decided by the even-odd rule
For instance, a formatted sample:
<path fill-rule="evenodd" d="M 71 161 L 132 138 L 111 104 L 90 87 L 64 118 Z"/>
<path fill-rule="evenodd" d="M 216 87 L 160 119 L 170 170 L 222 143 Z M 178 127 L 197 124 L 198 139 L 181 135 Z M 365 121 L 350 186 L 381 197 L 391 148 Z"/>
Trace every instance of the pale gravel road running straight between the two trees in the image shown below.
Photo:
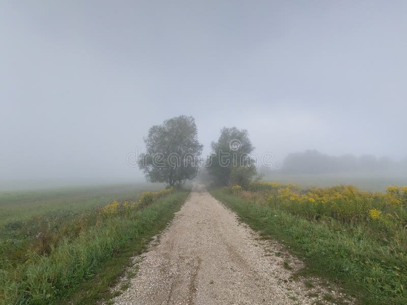
<path fill-rule="evenodd" d="M 283 256 L 279 257 L 279 256 Z M 289 259 L 290 266 L 284 260 Z M 293 268 L 293 269 L 287 269 Z M 259 240 L 202 187 L 195 187 L 115 304 L 312 304 L 331 289 L 291 281 L 301 262 Z M 308 284 L 308 287 L 310 285 Z M 307 296 L 318 292 L 318 296 Z"/>

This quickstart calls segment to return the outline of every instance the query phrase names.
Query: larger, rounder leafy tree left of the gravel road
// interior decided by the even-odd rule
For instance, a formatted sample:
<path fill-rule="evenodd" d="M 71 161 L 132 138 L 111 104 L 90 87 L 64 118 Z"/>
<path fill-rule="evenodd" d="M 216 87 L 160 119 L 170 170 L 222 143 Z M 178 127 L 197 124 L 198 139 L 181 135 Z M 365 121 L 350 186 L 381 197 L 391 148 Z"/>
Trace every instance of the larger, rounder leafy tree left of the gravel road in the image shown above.
<path fill-rule="evenodd" d="M 138 166 L 148 181 L 172 187 L 198 174 L 203 145 L 192 116 L 173 117 L 153 126 L 144 143 L 147 152 L 140 155 Z"/>

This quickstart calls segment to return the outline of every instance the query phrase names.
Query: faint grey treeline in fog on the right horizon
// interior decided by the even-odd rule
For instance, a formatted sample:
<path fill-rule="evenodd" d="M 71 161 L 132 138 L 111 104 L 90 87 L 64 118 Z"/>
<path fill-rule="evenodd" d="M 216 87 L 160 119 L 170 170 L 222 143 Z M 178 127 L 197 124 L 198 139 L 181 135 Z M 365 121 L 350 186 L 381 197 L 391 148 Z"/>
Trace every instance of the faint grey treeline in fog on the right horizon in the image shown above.
<path fill-rule="evenodd" d="M 330 156 L 317 150 L 289 154 L 279 172 L 287 174 L 328 174 L 328 173 L 394 173 L 407 171 L 407 158 L 394 161 L 387 157 L 373 155 Z"/>

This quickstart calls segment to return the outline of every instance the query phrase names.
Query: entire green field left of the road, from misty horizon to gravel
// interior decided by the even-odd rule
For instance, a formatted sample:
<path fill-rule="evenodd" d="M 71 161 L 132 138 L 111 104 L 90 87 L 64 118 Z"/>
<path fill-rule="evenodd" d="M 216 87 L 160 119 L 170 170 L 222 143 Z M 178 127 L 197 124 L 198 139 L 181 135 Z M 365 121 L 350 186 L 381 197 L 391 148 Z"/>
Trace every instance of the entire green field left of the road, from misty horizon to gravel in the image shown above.
<path fill-rule="evenodd" d="M 129 258 L 188 196 L 159 187 L 2 192 L 0 304 L 108 298 Z"/>

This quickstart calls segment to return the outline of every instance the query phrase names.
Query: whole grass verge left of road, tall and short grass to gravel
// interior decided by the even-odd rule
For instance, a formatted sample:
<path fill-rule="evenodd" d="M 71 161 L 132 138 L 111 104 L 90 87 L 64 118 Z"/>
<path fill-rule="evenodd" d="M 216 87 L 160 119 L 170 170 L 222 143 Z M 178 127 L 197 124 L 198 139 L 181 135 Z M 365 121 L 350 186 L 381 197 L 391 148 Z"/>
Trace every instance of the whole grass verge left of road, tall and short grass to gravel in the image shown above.
<path fill-rule="evenodd" d="M 0 303 L 94 304 L 107 297 L 129 258 L 167 225 L 187 196 L 174 192 L 126 217 L 108 217 L 74 240 L 62 240 L 49 255 L 0 270 Z"/>

